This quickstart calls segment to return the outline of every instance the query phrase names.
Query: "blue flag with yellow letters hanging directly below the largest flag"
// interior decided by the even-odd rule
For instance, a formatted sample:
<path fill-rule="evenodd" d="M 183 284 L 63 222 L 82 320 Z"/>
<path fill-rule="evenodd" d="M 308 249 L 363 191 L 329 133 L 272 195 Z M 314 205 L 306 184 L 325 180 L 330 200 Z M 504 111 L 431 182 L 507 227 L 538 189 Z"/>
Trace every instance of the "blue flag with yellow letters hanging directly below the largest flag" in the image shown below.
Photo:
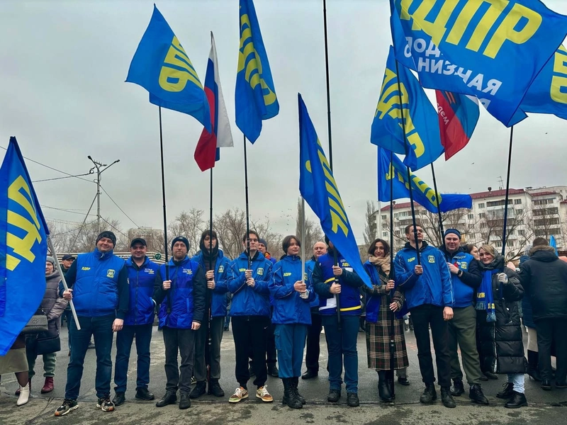
<path fill-rule="evenodd" d="M 437 111 L 409 69 L 398 67 L 403 105 L 395 69 L 393 47 L 388 62 L 374 121 L 370 142 L 398 154 L 406 154 L 404 164 L 413 171 L 431 164 L 443 153 Z M 402 115 L 403 114 L 403 115 Z M 402 117 L 405 120 L 404 140 Z"/>

